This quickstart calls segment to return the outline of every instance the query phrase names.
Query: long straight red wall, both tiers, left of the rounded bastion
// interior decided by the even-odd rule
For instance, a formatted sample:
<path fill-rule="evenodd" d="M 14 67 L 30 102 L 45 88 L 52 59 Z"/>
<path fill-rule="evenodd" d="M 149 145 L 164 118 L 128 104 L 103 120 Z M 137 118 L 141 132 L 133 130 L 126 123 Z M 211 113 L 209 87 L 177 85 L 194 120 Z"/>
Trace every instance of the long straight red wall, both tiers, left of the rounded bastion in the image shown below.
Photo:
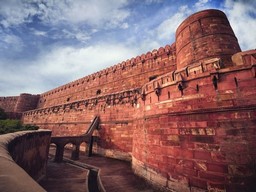
<path fill-rule="evenodd" d="M 98 152 L 115 156 L 117 151 L 119 158 L 121 154 L 131 159 L 132 106 L 139 99 L 140 87 L 150 78 L 175 70 L 175 61 L 174 45 L 127 60 L 42 94 L 37 110 L 27 112 L 23 120 L 51 129 L 53 135 L 77 135 L 86 131 L 94 115 L 100 115 Z"/>

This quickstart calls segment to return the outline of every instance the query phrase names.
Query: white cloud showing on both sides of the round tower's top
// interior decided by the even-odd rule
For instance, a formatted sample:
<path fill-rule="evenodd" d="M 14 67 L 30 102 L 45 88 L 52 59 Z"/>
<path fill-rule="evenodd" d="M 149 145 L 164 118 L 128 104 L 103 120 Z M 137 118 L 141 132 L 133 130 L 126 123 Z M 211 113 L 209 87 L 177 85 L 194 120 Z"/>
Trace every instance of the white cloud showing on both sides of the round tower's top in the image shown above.
<path fill-rule="evenodd" d="M 175 41 L 175 31 L 179 24 L 190 14 L 207 9 L 217 8 L 211 5 L 211 0 L 198 0 L 194 6 L 180 6 L 170 18 L 164 20 L 154 31 L 158 42 Z M 231 27 L 239 40 L 242 50 L 256 48 L 256 1 L 254 0 L 225 0 L 223 11 L 228 16 Z"/>

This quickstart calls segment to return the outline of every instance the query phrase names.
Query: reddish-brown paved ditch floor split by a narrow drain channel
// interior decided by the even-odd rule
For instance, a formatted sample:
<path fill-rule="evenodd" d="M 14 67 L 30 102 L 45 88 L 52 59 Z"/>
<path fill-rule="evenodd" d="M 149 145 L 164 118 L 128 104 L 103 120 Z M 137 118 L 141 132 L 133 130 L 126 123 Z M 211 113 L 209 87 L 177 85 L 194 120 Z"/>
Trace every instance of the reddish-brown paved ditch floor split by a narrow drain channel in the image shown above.
<path fill-rule="evenodd" d="M 53 151 L 50 150 L 50 153 Z M 71 154 L 65 150 L 64 157 Z M 101 181 L 107 192 L 157 192 L 143 179 L 133 174 L 129 162 L 93 155 L 80 155 L 78 163 L 101 169 Z M 86 192 L 87 170 L 68 163 L 48 163 L 47 177 L 40 183 L 48 192 Z"/>

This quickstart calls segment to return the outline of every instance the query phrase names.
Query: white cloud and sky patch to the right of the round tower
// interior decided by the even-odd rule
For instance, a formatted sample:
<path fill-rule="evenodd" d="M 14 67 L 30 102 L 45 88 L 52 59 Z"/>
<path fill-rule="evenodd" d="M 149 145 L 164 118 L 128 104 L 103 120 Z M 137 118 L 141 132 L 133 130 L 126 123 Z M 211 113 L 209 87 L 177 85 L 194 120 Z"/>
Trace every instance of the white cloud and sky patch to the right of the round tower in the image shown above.
<path fill-rule="evenodd" d="M 255 10 L 256 1 L 254 0 L 225 1 L 224 11 L 235 35 L 238 37 L 242 50 L 256 48 Z"/>

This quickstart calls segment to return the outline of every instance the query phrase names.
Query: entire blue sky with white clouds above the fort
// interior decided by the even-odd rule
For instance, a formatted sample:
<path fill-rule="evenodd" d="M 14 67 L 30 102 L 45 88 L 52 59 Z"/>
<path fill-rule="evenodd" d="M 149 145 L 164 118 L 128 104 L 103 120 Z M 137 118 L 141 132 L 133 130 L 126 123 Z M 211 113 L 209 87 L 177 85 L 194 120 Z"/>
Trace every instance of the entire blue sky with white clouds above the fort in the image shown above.
<path fill-rule="evenodd" d="M 223 10 L 256 48 L 255 0 L 0 0 L 0 96 L 38 94 L 172 44 L 190 14 Z"/>

